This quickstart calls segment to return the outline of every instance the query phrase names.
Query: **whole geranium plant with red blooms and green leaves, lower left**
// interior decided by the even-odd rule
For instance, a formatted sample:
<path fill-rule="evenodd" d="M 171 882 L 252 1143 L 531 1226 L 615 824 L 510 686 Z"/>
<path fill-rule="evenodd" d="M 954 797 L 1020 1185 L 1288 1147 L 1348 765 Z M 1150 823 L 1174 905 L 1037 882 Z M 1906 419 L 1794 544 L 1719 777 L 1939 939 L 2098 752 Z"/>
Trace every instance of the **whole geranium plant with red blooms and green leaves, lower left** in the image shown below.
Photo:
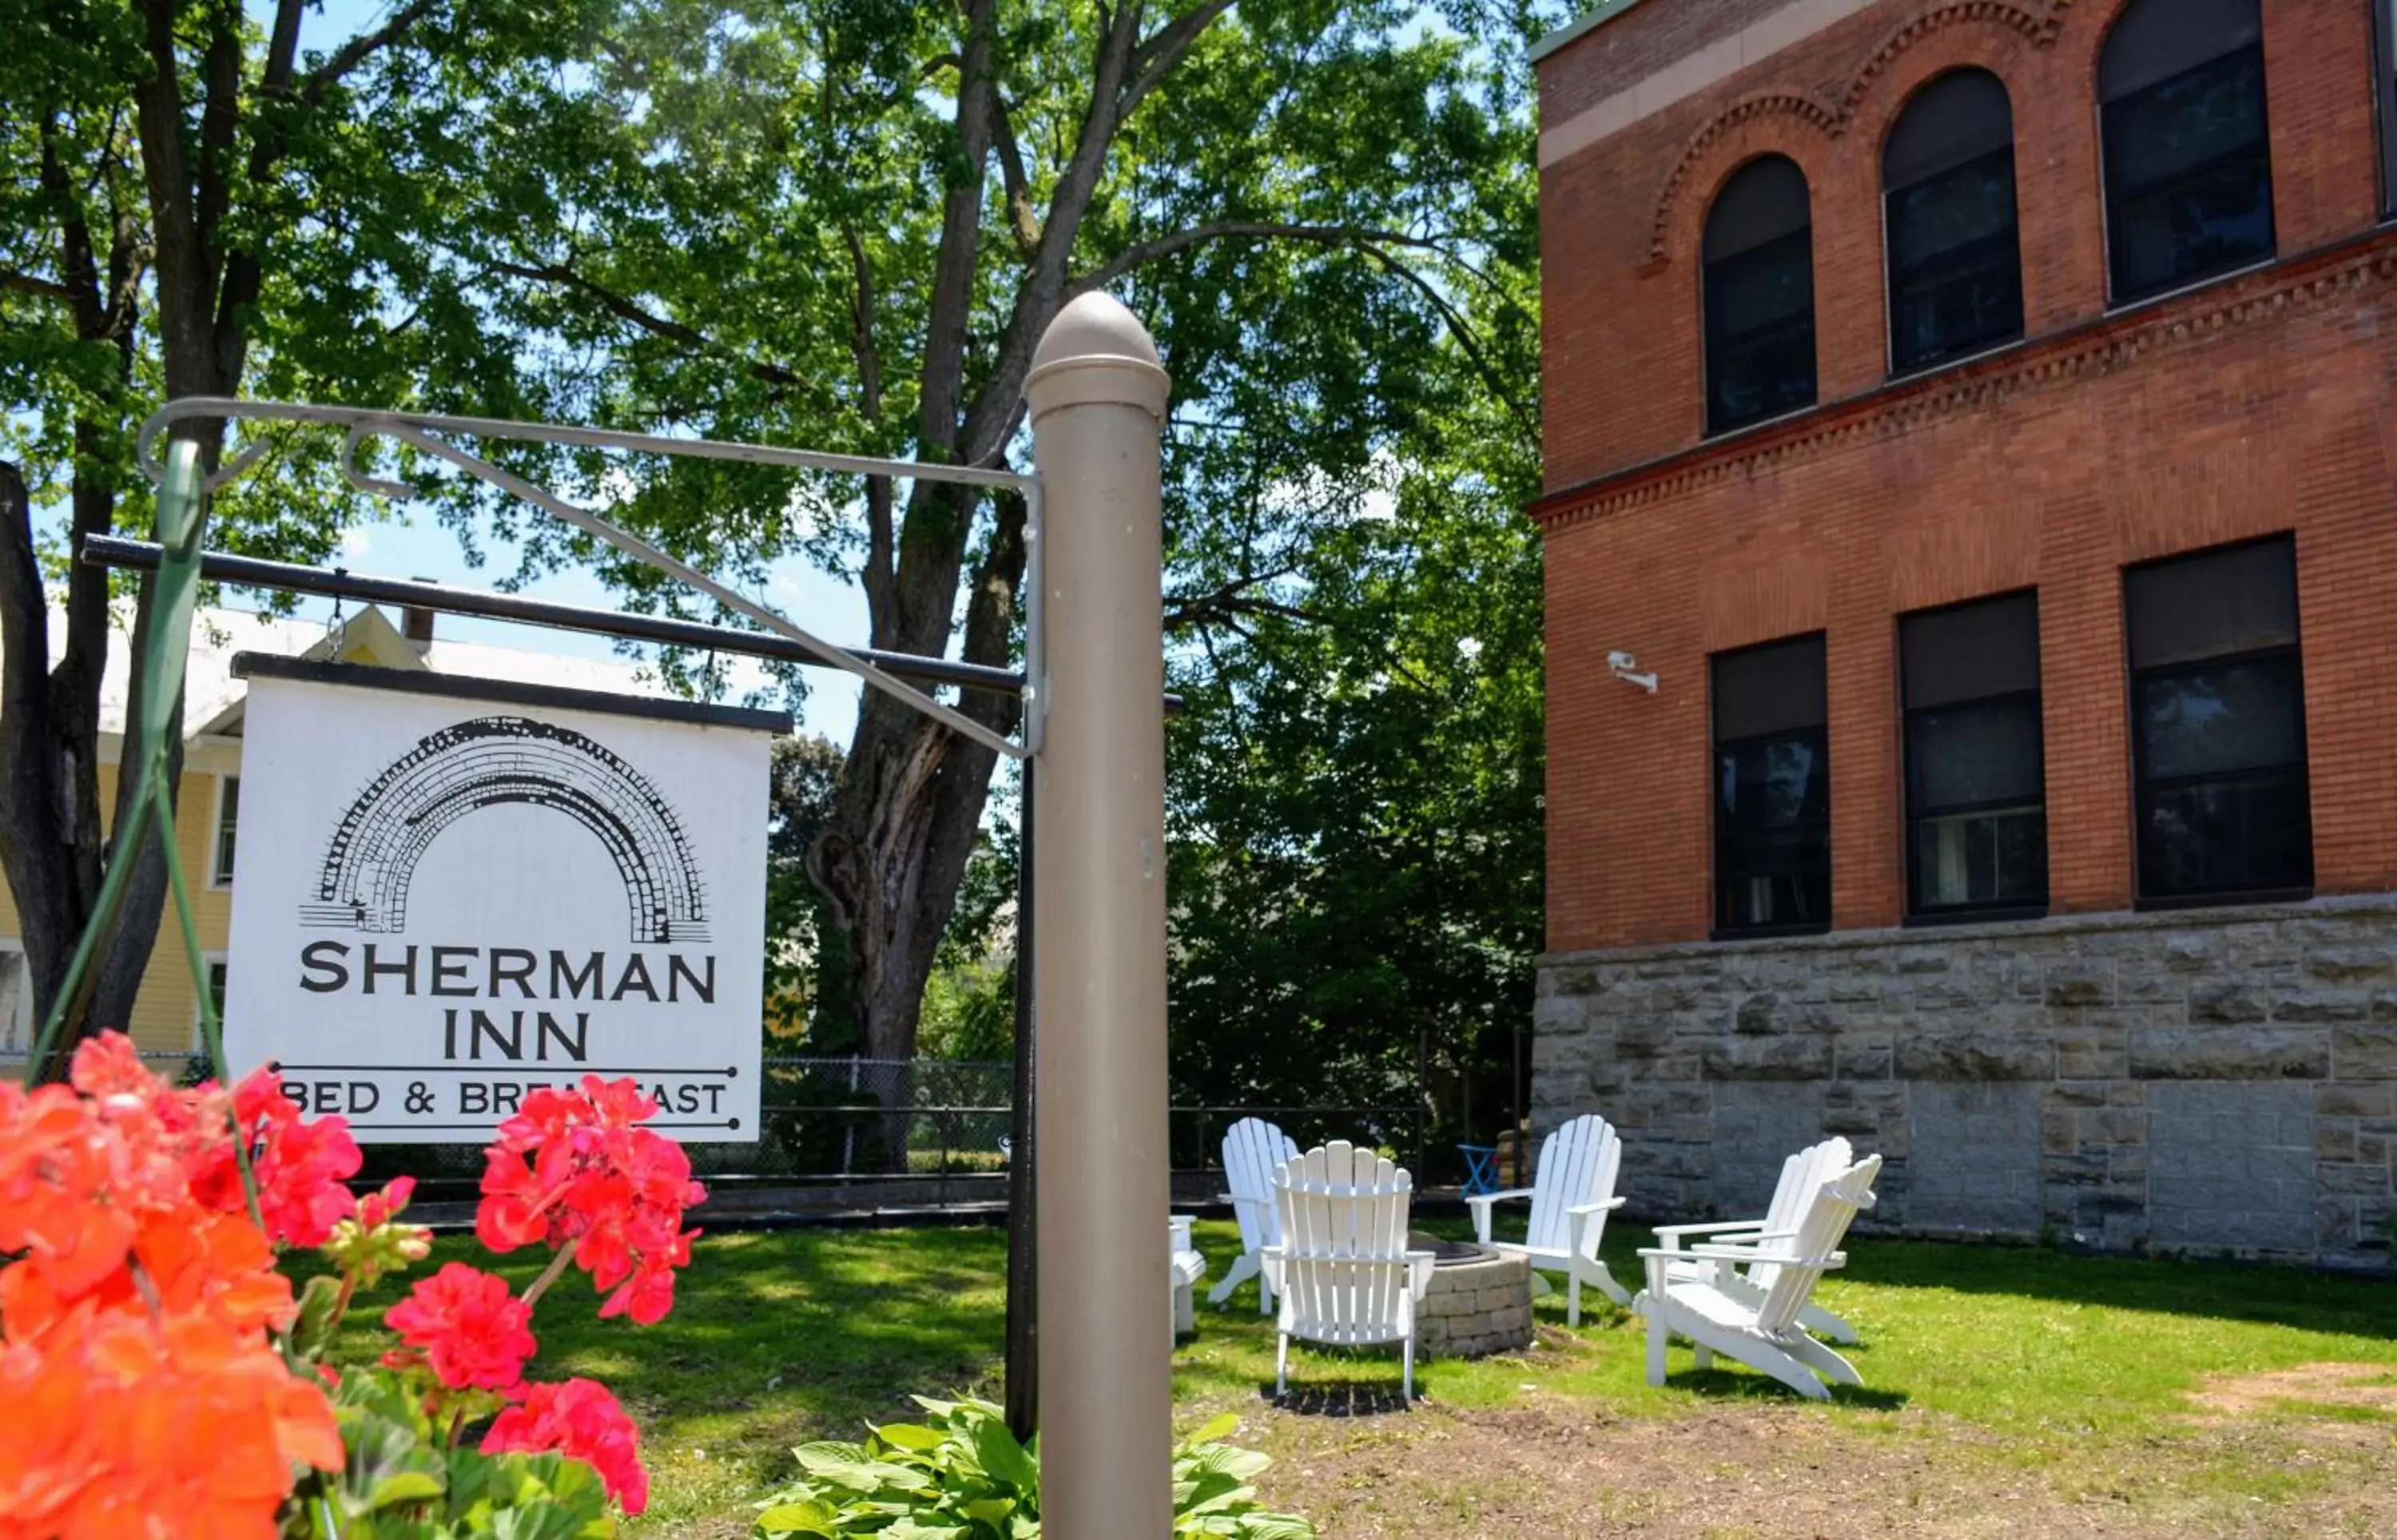
<path fill-rule="evenodd" d="M 0 1540 L 578 1540 L 638 1514 L 633 1420 L 590 1380 L 530 1382 L 532 1308 L 568 1269 L 654 1322 L 705 1193 L 630 1080 L 537 1090 L 487 1150 L 475 1231 L 542 1274 L 448 1262 L 384 1315 L 374 1365 L 326 1353 L 357 1291 L 422 1262 L 412 1183 L 352 1198 L 340 1118 L 273 1071 L 175 1087 L 129 1039 L 72 1085 L 0 1083 Z M 280 1262 L 321 1255 L 295 1291 Z"/>

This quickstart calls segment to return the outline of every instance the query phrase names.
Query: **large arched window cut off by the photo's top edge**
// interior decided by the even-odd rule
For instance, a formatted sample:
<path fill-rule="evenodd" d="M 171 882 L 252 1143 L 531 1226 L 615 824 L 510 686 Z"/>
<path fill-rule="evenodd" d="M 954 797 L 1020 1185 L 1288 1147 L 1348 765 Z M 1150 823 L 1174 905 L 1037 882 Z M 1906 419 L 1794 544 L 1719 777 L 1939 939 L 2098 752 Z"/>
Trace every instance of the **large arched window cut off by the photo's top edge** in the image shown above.
<path fill-rule="evenodd" d="M 2272 256 L 2258 0 L 2131 0 L 2097 101 L 2117 304 Z"/>

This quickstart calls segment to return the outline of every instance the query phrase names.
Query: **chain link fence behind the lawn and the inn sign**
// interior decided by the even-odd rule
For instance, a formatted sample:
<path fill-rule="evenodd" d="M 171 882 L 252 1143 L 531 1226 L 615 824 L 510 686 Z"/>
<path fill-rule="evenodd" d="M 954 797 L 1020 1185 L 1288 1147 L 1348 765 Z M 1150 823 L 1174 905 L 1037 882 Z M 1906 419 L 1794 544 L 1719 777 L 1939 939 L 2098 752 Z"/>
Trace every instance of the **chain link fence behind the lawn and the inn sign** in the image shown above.
<path fill-rule="evenodd" d="M 199 1083 L 199 1054 L 144 1054 L 151 1068 Z M 0 1075 L 22 1078 L 24 1054 L 0 1054 Z M 1004 1059 L 796 1059 L 769 1056 L 755 1142 L 683 1145 L 693 1174 L 714 1188 L 908 1183 L 923 1202 L 1002 1200 L 1014 1128 L 1014 1066 Z M 1270 1118 L 1302 1147 L 1350 1140 L 1388 1150 L 1429 1178 L 1445 1176 L 1424 1147 L 1426 1109 L 1175 1104 L 1167 1150 L 1177 1198 L 1210 1198 L 1203 1174 L 1222 1164 L 1222 1135 L 1239 1118 Z M 424 1200 L 472 1198 L 482 1145 L 369 1145 L 364 1181 L 415 1176 Z M 1426 1169 L 1429 1166 L 1429 1169 Z M 920 1183 L 932 1183 L 928 1190 Z"/>

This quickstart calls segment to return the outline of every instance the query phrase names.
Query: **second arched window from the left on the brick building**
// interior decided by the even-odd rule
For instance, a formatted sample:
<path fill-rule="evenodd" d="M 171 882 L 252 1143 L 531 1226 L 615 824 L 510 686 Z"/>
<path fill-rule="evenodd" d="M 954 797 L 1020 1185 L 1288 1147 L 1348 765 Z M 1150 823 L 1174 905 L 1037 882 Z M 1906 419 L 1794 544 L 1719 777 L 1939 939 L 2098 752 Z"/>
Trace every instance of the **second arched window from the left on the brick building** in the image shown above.
<path fill-rule="evenodd" d="M 2013 108 L 1987 69 L 1925 86 L 1882 148 L 1889 366 L 1925 369 L 2023 335 Z"/>

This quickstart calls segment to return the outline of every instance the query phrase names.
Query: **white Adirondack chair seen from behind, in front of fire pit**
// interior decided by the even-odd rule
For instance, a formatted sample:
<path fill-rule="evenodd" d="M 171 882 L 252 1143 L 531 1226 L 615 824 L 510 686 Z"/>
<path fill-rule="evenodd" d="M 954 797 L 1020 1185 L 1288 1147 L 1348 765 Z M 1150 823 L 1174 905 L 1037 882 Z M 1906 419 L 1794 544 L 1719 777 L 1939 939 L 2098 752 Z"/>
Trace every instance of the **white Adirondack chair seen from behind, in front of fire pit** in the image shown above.
<path fill-rule="evenodd" d="M 1407 1250 L 1414 1178 L 1347 1140 L 1318 1145 L 1273 1178 L 1282 1238 L 1266 1277 L 1282 1296 L 1273 1394 L 1290 1389 L 1290 1339 L 1330 1346 L 1400 1344 L 1414 1401 L 1414 1305 L 1431 1286 L 1431 1253 Z"/>

